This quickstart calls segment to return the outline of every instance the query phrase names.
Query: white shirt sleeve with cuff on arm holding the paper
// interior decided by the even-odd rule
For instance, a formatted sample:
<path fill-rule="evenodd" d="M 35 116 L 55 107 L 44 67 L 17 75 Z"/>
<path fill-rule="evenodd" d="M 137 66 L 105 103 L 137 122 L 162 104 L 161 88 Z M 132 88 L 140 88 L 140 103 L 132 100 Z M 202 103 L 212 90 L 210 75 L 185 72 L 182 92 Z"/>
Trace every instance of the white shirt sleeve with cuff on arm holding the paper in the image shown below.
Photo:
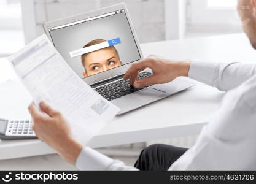
<path fill-rule="evenodd" d="M 77 157 L 76 167 L 79 170 L 138 170 L 126 166 L 122 161 L 111 159 L 96 150 L 84 147 Z"/>

